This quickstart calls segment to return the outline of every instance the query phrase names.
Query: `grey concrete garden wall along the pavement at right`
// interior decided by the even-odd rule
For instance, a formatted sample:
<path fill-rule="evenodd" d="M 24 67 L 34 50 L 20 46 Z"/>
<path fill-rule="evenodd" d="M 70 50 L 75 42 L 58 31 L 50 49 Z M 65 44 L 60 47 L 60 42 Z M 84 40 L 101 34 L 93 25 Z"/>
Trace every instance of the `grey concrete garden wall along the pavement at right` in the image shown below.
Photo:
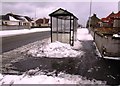
<path fill-rule="evenodd" d="M 91 34 L 101 54 L 103 53 L 103 48 L 105 48 L 106 56 L 120 56 L 120 38 L 115 39 L 112 36 L 102 36 L 92 31 Z"/>

